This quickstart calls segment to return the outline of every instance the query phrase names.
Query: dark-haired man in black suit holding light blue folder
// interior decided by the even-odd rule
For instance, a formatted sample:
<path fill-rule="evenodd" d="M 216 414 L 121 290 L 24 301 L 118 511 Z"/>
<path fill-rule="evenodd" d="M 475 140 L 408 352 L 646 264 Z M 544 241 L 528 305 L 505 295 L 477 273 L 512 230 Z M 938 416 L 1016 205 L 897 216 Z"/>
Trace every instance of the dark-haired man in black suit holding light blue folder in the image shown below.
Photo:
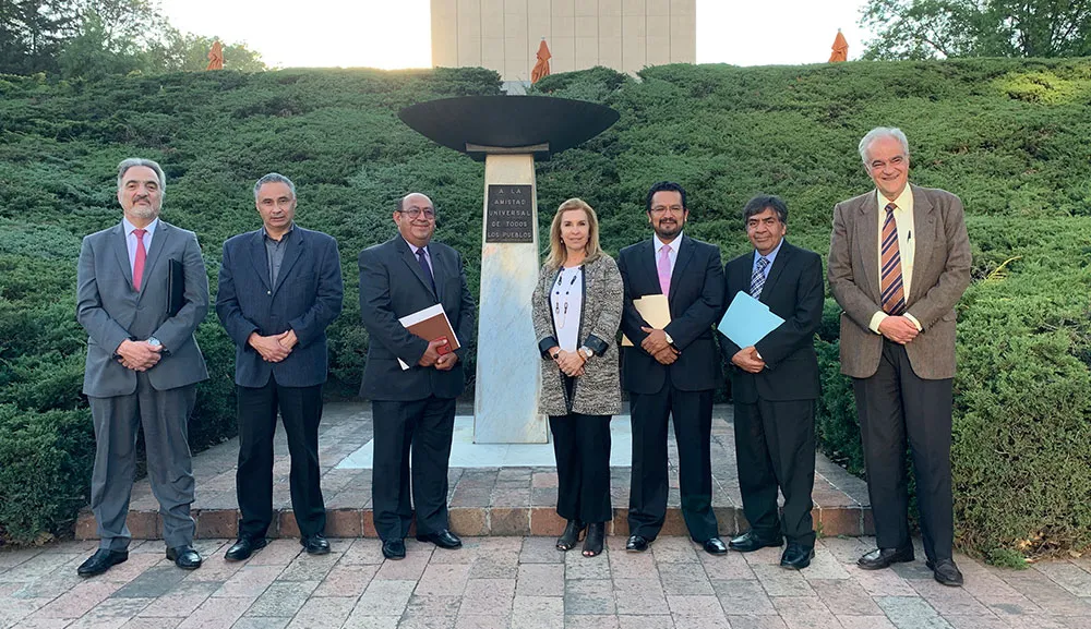
<path fill-rule="evenodd" d="M 780 565 L 799 570 L 811 565 L 815 545 L 811 491 L 819 385 L 814 334 L 822 320 L 822 258 L 784 240 L 788 206 L 780 197 L 755 196 L 743 218 L 754 251 L 724 266 L 731 312 L 719 329 L 727 335 L 720 348 L 732 365 L 735 458 L 751 530 L 728 546 L 750 553 L 780 546 L 787 537 Z M 747 303 L 754 300 L 760 303 Z M 744 309 L 771 314 L 733 317 Z M 771 331 L 775 323 L 755 329 L 777 317 L 783 323 Z M 778 487 L 784 494 L 782 517 Z"/>

